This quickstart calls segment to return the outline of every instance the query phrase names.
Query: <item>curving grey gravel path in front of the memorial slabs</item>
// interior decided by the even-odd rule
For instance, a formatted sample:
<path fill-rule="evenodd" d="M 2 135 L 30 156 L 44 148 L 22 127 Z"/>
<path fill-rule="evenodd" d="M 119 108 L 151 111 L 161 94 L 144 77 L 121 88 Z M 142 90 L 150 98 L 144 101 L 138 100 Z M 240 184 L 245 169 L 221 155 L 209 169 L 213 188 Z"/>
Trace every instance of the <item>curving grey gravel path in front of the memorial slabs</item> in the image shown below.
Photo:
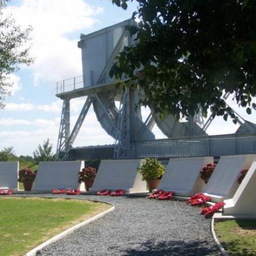
<path fill-rule="evenodd" d="M 210 220 L 184 202 L 139 197 L 75 198 L 105 201 L 115 210 L 45 247 L 39 255 L 221 255 L 210 234 Z"/>

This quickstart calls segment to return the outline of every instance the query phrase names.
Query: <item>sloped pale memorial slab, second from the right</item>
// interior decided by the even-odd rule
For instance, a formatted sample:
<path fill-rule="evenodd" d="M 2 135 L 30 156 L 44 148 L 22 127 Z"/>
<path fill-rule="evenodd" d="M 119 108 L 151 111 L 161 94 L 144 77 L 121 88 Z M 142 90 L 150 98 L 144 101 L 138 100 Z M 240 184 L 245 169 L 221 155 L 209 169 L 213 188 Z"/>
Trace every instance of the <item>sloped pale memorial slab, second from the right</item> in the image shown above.
<path fill-rule="evenodd" d="M 210 201 L 221 202 L 233 197 L 239 184 L 237 182 L 241 170 L 250 168 L 255 155 L 221 156 L 203 193 L 210 197 Z"/>

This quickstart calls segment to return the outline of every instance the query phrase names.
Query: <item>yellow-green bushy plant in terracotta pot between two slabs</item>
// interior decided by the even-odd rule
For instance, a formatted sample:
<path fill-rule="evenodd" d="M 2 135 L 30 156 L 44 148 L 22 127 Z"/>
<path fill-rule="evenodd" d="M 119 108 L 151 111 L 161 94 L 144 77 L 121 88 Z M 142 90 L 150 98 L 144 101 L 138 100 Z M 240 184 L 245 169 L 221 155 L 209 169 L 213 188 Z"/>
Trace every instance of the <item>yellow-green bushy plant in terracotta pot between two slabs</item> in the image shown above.
<path fill-rule="evenodd" d="M 165 169 L 166 166 L 155 158 L 146 158 L 141 166 L 138 167 L 138 172 L 142 175 L 142 180 L 147 181 L 150 192 L 158 187 Z"/>

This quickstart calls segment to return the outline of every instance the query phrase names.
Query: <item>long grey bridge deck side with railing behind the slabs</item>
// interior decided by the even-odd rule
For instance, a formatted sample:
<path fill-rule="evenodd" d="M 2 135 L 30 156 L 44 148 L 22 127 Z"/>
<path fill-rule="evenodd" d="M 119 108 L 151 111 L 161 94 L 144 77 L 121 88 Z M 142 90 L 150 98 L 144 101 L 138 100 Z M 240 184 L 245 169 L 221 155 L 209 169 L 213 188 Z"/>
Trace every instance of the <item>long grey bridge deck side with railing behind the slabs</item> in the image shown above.
<path fill-rule="evenodd" d="M 196 139 L 163 139 L 150 142 L 132 143 L 125 148 L 122 158 L 173 158 L 192 156 L 223 156 L 256 154 L 256 134 L 234 137 L 199 137 Z M 114 145 L 108 147 L 84 147 L 72 149 L 72 157 L 76 159 L 113 159 Z"/>

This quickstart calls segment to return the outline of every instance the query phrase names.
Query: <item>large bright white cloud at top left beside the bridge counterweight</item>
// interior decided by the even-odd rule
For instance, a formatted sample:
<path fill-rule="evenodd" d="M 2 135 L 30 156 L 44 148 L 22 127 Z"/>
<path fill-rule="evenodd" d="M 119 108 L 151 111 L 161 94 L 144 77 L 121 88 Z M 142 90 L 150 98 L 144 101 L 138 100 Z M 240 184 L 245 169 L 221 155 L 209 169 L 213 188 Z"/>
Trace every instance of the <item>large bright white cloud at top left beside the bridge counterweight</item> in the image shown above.
<path fill-rule="evenodd" d="M 19 5 L 7 7 L 18 24 L 33 27 L 32 56 L 35 85 L 40 80 L 54 81 L 81 75 L 81 52 L 77 48 L 80 32 L 91 27 L 94 15 L 102 8 L 90 6 L 82 0 L 22 0 Z M 67 34 L 77 32 L 77 39 Z"/>

